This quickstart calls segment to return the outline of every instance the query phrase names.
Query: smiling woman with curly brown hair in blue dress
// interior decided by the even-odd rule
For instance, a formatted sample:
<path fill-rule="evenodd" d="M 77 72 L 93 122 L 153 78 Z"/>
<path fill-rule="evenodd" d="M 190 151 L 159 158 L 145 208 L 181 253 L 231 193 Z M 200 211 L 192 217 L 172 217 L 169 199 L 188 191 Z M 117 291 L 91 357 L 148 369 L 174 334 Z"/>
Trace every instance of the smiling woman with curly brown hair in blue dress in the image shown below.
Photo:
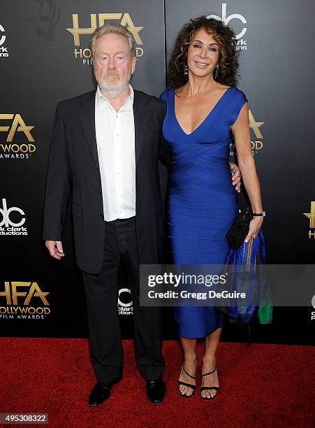
<path fill-rule="evenodd" d="M 263 222 L 261 191 L 251 153 L 249 110 L 235 87 L 237 57 L 233 31 L 223 22 L 199 17 L 182 27 L 168 69 L 170 89 L 161 94 L 167 114 L 163 136 L 172 151 L 168 187 L 168 237 L 174 264 L 224 264 L 226 233 L 238 214 L 230 180 L 231 134 L 253 212 L 249 238 Z M 200 397 L 219 390 L 216 350 L 225 315 L 214 307 L 175 308 L 184 362 L 183 397 L 196 390 L 196 338 L 205 337 Z"/>

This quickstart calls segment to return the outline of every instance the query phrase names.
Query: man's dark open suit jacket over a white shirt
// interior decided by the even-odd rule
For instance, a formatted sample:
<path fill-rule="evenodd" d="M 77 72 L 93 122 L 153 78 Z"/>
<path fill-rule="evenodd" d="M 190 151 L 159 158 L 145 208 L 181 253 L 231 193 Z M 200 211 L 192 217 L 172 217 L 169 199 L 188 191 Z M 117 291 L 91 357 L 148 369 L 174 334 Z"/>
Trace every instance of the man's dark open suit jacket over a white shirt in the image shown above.
<path fill-rule="evenodd" d="M 71 193 L 75 254 L 79 268 L 99 273 L 103 266 L 104 220 L 95 132 L 95 91 L 57 104 L 47 171 L 43 239 L 61 241 Z M 168 164 L 162 136 L 164 101 L 134 91 L 135 193 L 138 250 L 142 264 L 159 264 L 162 200 L 159 158 Z"/>

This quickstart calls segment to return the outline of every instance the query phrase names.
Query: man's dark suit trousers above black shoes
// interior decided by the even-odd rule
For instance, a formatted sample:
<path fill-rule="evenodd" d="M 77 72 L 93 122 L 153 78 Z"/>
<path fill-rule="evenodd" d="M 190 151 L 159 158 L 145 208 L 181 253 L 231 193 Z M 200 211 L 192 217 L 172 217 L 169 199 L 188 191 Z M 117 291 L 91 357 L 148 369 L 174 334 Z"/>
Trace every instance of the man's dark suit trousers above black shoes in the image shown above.
<path fill-rule="evenodd" d="M 135 359 L 143 378 L 157 379 L 165 362 L 161 354 L 161 309 L 139 304 L 139 255 L 135 217 L 105 222 L 103 269 L 83 272 L 91 362 L 97 380 L 110 382 L 122 374 L 124 353 L 119 325 L 117 276 L 120 264 L 129 274 L 135 329 Z"/>

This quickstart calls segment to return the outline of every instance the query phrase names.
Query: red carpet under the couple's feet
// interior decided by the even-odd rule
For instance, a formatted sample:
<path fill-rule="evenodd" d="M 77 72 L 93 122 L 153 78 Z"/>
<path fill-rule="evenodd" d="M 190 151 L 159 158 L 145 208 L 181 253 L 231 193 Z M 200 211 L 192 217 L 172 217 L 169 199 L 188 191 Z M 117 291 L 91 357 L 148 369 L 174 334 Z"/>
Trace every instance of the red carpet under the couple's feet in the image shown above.
<path fill-rule="evenodd" d="M 87 340 L 0 338 L 0 347 L 0 413 L 48 413 L 50 427 L 314 427 L 309 346 L 220 343 L 220 390 L 207 402 L 180 397 L 180 350 L 166 341 L 168 392 L 154 405 L 135 369 L 133 343 L 125 341 L 124 379 L 96 408 L 87 406 L 95 383 Z"/>

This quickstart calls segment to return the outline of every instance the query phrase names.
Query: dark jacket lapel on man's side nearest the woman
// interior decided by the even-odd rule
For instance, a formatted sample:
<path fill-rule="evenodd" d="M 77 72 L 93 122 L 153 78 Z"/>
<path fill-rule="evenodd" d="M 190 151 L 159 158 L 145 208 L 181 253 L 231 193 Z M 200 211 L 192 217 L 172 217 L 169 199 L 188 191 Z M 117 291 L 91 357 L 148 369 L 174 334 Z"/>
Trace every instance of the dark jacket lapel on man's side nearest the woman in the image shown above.
<path fill-rule="evenodd" d="M 134 91 L 133 118 L 135 122 L 135 164 L 138 163 L 142 146 L 145 142 L 148 115 L 147 106 L 142 104 L 138 91 Z"/>

